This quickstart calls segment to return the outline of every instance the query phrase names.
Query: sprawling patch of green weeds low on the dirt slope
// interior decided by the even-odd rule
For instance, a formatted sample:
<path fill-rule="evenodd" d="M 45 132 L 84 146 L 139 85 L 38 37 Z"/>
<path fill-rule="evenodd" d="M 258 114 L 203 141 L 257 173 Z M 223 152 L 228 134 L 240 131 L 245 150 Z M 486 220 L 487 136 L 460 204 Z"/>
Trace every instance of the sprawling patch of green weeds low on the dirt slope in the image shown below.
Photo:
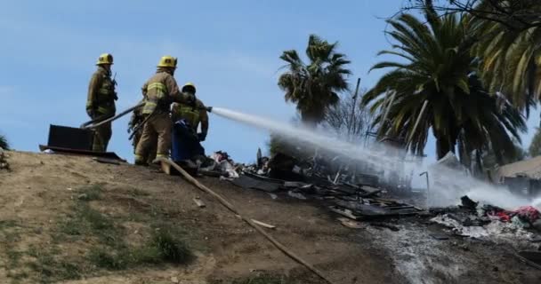
<path fill-rule="evenodd" d="M 136 214 L 122 218 L 138 219 L 141 223 L 149 223 L 153 228 L 151 236 L 141 247 L 133 248 L 125 241 L 125 231 L 116 222 L 120 219 L 109 217 L 97 209 L 93 209 L 88 201 L 102 198 L 101 185 L 82 187 L 73 212 L 64 217 L 58 224 L 52 245 L 47 248 L 30 246 L 25 252 L 32 256 L 28 267 L 33 276 L 42 282 L 80 279 L 85 272 L 100 270 L 119 271 L 141 264 L 187 264 L 193 258 L 187 242 L 178 236 L 187 236 L 176 226 L 159 218 L 163 214 L 155 206 L 151 207 L 150 215 Z M 139 189 L 131 189 L 133 195 L 148 195 Z M 0 223 L 3 226 L 15 226 L 15 223 Z M 11 231 L 11 230 L 10 230 Z M 7 235 L 8 232 L 4 234 Z M 100 245 L 91 248 L 82 259 L 75 262 L 64 261 L 58 250 L 63 241 L 88 241 L 87 238 L 99 239 Z M 15 252 L 12 253 L 15 256 Z M 19 261 L 19 260 L 17 260 Z"/>

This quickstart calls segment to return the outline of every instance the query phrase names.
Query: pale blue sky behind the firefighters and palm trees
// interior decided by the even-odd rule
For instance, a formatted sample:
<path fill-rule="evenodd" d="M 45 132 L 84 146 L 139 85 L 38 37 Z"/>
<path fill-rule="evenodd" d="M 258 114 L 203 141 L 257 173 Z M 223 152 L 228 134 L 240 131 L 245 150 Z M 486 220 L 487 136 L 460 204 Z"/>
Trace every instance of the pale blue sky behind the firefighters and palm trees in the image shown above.
<path fill-rule="evenodd" d="M 351 83 L 372 86 L 381 72 L 367 73 L 389 48 L 383 18 L 391 1 L 4 1 L 0 11 L 0 132 L 17 150 L 46 144 L 49 124 L 77 127 L 88 120 L 88 81 L 102 52 L 115 57 L 117 109 L 141 99 L 141 85 L 166 54 L 179 59 L 179 84 L 196 83 L 198 98 L 281 121 L 295 116 L 277 86 L 281 51 L 304 51 L 308 36 L 338 41 L 351 59 Z M 538 112 L 529 122 L 538 122 Z M 113 125 L 109 150 L 133 161 L 129 117 Z M 224 150 L 254 161 L 268 133 L 210 117 L 207 152 Z M 528 146 L 533 133 L 524 136 Z M 429 141 L 427 154 L 433 154 Z"/>

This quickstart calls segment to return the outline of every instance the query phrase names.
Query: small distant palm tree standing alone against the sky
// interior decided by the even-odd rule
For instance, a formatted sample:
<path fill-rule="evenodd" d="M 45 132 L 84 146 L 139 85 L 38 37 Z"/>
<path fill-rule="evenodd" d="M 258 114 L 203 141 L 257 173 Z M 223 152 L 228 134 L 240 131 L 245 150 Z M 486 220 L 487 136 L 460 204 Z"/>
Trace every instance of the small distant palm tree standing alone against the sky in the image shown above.
<path fill-rule="evenodd" d="M 296 104 L 302 121 L 311 127 L 323 120 L 327 107 L 338 103 L 337 93 L 348 89 L 346 76 L 351 71 L 346 65 L 350 61 L 336 47 L 337 43 L 311 35 L 306 48 L 309 64 L 295 50 L 280 56 L 287 62 L 287 72 L 280 75 L 278 85 L 286 91 L 286 101 Z"/>

